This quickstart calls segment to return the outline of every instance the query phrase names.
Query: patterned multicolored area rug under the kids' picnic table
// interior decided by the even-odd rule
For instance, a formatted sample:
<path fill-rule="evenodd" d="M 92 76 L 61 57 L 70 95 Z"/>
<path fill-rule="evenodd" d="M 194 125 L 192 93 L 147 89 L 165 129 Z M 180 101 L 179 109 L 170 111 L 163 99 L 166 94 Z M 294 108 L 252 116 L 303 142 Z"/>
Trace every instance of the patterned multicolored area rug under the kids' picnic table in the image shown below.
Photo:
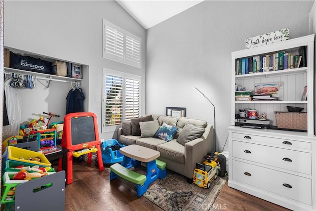
<path fill-rule="evenodd" d="M 146 166 L 132 168 L 132 170 L 146 174 Z M 105 166 L 110 172 L 110 167 Z M 122 182 L 136 190 L 136 184 L 118 177 Z M 167 169 L 163 179 L 156 179 L 149 185 L 144 197 L 158 205 L 164 211 L 208 211 L 212 208 L 216 197 L 224 187 L 227 177 L 217 177 L 209 189 L 189 184 L 187 178 Z"/>

